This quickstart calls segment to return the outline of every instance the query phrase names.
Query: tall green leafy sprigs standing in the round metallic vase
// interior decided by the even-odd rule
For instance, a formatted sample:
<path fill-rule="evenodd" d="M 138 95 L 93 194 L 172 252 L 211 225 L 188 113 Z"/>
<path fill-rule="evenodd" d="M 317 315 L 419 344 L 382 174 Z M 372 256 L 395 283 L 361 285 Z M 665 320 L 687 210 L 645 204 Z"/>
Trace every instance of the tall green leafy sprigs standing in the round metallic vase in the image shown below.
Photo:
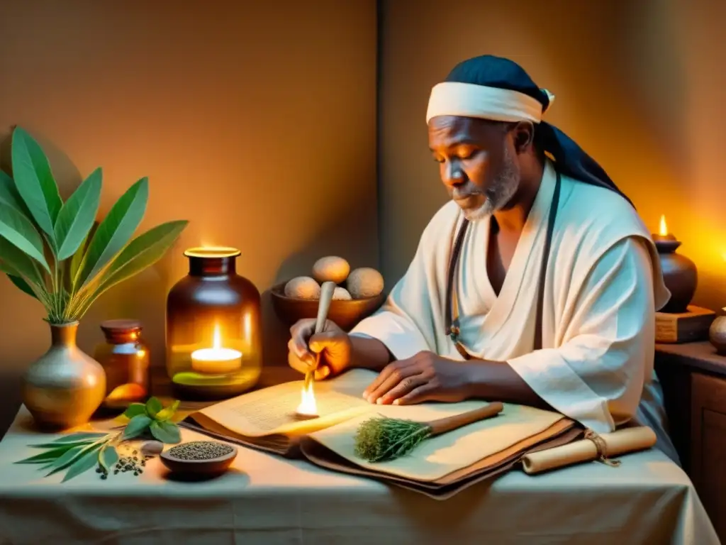
<path fill-rule="evenodd" d="M 101 294 L 163 257 L 187 226 L 166 222 L 131 240 L 146 211 L 146 177 L 97 222 L 102 169 L 64 202 L 38 142 L 16 127 L 11 145 L 12 177 L 0 171 L 0 271 L 44 305 L 49 323 L 80 320 Z"/>

